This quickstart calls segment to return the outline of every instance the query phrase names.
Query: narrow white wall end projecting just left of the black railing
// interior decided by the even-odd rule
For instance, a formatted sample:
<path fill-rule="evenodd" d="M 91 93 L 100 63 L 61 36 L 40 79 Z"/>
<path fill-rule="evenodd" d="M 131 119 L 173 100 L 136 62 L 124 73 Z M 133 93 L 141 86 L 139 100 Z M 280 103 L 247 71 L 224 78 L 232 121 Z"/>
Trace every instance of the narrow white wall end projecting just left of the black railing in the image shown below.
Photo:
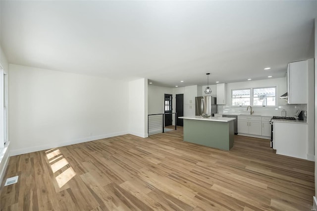
<path fill-rule="evenodd" d="M 129 133 L 146 138 L 148 134 L 148 80 L 145 78 L 129 82 Z M 124 114 L 126 114 L 124 112 Z"/>

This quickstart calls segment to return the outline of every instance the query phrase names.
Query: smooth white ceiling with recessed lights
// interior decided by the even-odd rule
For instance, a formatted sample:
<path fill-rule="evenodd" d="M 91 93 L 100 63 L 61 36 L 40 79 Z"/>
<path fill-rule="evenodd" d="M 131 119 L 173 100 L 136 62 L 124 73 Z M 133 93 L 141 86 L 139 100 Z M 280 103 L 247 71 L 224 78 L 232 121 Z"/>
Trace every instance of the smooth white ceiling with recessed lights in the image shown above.
<path fill-rule="evenodd" d="M 207 85 L 207 72 L 210 84 L 284 77 L 288 62 L 314 57 L 316 0 L 1 0 L 0 7 L 1 47 L 20 65 L 174 87 Z"/>

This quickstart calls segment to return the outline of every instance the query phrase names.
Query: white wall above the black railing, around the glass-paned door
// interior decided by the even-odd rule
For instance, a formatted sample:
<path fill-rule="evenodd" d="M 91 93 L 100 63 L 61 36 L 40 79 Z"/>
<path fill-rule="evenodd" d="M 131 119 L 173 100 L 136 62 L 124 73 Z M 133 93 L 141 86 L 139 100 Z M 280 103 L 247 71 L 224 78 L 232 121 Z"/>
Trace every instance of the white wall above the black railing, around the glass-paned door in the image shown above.
<path fill-rule="evenodd" d="M 148 102 L 149 102 L 149 114 L 164 113 L 164 94 L 173 94 L 173 88 L 159 87 L 154 85 L 149 85 L 148 91 Z M 173 109 L 174 108 L 173 96 Z M 175 112 L 175 110 L 173 110 Z"/>

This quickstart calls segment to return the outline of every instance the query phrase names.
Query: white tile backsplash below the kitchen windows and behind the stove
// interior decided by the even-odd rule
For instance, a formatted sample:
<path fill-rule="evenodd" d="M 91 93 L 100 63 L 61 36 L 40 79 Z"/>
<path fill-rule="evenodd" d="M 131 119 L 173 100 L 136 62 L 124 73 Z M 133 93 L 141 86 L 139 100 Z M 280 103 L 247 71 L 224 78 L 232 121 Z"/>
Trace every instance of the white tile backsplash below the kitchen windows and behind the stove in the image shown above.
<path fill-rule="evenodd" d="M 247 107 L 243 106 L 223 106 L 218 105 L 218 113 L 223 114 L 249 114 L 250 110 L 247 111 Z M 297 110 L 307 110 L 307 104 L 292 104 L 292 105 L 283 105 L 278 107 L 258 107 L 252 106 L 253 114 L 258 115 L 267 115 L 267 116 L 281 116 L 282 110 L 286 110 L 287 116 L 294 116 Z M 309 113 L 307 114 L 309 115 Z"/>

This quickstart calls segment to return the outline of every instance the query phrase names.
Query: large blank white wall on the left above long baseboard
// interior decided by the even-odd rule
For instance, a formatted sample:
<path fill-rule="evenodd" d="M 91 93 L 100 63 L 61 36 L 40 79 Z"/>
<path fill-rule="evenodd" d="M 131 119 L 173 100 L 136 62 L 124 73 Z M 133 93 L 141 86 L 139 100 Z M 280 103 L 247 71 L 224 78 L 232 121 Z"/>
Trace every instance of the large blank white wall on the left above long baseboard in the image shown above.
<path fill-rule="evenodd" d="M 11 156 L 127 133 L 127 82 L 14 64 L 9 69 Z"/>

